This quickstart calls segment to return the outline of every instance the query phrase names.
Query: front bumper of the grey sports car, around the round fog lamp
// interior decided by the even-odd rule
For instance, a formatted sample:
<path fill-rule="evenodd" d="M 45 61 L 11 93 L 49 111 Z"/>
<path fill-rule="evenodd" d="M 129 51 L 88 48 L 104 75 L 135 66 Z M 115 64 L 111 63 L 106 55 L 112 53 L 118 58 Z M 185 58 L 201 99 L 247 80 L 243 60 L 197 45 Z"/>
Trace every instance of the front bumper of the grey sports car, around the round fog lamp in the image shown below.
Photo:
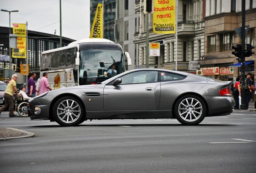
<path fill-rule="evenodd" d="M 41 113 L 39 115 L 35 114 L 35 107 L 41 108 Z M 29 110 L 28 115 L 31 120 L 39 120 L 39 119 L 50 119 L 49 117 L 49 105 L 41 105 L 37 99 L 33 99 L 32 101 L 29 101 Z"/>

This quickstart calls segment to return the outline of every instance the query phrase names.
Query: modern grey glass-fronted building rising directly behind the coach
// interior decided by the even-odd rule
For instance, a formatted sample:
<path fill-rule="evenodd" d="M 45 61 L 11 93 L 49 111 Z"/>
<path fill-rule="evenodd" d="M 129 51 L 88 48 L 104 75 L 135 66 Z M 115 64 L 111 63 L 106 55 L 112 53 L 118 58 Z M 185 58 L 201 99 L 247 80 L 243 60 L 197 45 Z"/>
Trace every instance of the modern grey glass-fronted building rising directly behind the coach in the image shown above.
<path fill-rule="evenodd" d="M 102 2 L 102 0 L 90 1 L 90 26 L 93 23 L 97 4 Z M 135 0 L 104 0 L 103 2 L 103 38 L 120 44 L 124 51 L 129 52 L 132 66 L 126 66 L 128 70 L 134 68 L 137 58 L 133 40 L 138 14 L 135 13 L 134 8 Z"/>

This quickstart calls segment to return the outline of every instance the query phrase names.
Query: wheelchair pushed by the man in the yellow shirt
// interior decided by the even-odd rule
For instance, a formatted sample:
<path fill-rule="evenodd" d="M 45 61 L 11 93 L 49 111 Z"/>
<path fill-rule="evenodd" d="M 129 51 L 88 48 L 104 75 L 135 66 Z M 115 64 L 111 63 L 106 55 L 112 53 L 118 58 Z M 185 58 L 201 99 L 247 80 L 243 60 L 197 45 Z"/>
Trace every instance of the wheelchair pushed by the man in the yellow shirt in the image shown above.
<path fill-rule="evenodd" d="M 28 110 L 29 110 L 29 102 L 25 101 L 23 99 L 22 95 L 15 96 L 14 97 L 14 110 L 17 111 L 19 116 L 27 117 L 28 116 Z"/>

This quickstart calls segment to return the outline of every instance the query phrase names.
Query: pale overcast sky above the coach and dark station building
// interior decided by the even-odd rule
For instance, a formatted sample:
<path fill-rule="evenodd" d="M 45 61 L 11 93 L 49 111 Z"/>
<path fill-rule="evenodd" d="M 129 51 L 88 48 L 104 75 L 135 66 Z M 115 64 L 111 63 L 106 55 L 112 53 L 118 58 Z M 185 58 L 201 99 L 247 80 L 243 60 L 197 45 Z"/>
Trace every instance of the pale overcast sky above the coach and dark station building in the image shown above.
<path fill-rule="evenodd" d="M 62 36 L 89 38 L 90 0 L 61 0 Z M 12 23 L 28 22 L 28 30 L 60 35 L 60 0 L 0 0 L 0 9 L 11 12 Z M 9 13 L 0 11 L 0 26 L 9 27 Z"/>

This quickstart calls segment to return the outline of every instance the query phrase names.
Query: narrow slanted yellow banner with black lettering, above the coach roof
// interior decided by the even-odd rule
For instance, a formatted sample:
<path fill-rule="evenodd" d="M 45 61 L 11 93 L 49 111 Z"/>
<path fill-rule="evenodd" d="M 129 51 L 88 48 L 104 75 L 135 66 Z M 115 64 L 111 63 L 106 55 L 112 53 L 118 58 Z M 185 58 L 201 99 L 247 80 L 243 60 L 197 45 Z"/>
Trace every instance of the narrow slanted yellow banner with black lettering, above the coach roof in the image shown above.
<path fill-rule="evenodd" d="M 95 12 L 90 38 L 103 38 L 103 4 L 99 3 Z"/>

